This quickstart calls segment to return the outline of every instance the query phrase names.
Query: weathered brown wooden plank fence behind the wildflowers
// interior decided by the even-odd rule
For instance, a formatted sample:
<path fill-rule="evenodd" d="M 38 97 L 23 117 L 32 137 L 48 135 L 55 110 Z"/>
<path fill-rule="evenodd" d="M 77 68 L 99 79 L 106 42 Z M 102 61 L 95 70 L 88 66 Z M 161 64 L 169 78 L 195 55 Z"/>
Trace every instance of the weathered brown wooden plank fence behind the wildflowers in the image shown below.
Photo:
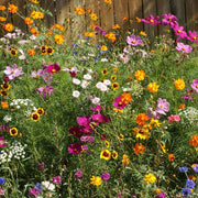
<path fill-rule="evenodd" d="M 14 3 L 24 14 L 28 13 L 25 0 L 0 0 L 0 4 Z M 67 29 L 70 34 L 74 34 L 75 28 L 86 24 L 86 21 L 89 20 L 89 15 L 85 14 L 80 18 L 80 21 L 72 22 L 72 15 L 76 7 L 85 10 L 92 9 L 92 12 L 99 16 L 97 25 L 107 31 L 110 31 L 112 25 L 118 23 L 120 26 L 130 24 L 131 29 L 145 31 L 150 35 L 162 34 L 167 26 L 130 23 L 130 20 L 134 20 L 135 16 L 146 18 L 150 14 L 155 16 L 164 13 L 175 14 L 178 23 L 186 31 L 198 31 L 198 23 L 196 23 L 198 21 L 198 0 L 112 0 L 112 4 L 109 7 L 107 7 L 105 0 L 40 0 L 40 2 L 43 9 L 53 13 L 53 16 L 46 18 L 46 25 L 50 28 L 54 23 L 64 24 L 64 22 L 67 22 L 65 25 L 68 25 Z M 24 22 L 18 15 L 14 15 L 14 18 L 11 15 L 10 21 L 24 30 Z"/>

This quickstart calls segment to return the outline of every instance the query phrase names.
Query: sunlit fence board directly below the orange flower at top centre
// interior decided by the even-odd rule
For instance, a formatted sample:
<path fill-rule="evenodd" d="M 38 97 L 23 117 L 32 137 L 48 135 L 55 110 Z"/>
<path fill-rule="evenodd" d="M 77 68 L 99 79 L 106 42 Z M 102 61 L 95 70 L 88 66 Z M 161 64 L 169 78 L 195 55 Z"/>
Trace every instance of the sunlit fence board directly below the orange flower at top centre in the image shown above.
<path fill-rule="evenodd" d="M 114 24 L 113 4 L 108 6 L 103 0 L 100 0 L 100 18 L 101 28 L 106 31 L 110 31 L 112 24 Z"/>

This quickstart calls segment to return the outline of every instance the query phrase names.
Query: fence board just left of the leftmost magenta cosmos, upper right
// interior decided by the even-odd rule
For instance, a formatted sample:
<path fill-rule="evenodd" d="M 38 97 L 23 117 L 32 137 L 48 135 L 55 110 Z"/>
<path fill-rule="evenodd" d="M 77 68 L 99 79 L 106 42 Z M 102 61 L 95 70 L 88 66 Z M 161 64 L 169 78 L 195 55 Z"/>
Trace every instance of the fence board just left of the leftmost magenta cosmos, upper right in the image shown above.
<path fill-rule="evenodd" d="M 143 31 L 143 23 L 136 23 L 135 18 L 144 18 L 142 10 L 142 1 L 141 0 L 129 0 L 129 15 L 130 20 L 133 20 L 132 29 L 133 31 Z M 132 31 L 132 30 L 131 30 Z"/>

